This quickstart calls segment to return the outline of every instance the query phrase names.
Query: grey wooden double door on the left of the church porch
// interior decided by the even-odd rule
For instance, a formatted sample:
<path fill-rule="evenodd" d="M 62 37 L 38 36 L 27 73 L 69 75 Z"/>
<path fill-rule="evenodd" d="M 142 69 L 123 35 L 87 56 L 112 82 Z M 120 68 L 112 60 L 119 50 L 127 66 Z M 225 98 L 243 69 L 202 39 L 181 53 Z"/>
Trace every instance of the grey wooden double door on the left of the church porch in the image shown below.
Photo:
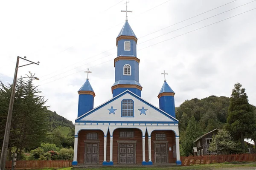
<path fill-rule="evenodd" d="M 87 143 L 85 148 L 85 159 L 86 164 L 97 164 L 99 158 L 99 148 L 97 143 Z"/>

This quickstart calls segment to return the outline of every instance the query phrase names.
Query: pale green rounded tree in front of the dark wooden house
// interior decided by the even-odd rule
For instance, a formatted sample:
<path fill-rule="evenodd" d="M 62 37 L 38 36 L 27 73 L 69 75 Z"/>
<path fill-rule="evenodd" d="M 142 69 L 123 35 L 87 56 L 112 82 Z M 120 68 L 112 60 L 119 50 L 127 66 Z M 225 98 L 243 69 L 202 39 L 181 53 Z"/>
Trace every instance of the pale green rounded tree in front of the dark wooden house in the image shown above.
<path fill-rule="evenodd" d="M 216 144 L 217 142 L 217 144 Z M 217 148 L 216 148 L 217 146 Z M 230 154 L 237 148 L 236 142 L 232 140 L 230 133 L 225 129 L 220 129 L 215 136 L 212 136 L 212 142 L 210 143 L 209 150 L 217 152 L 218 154 Z"/>

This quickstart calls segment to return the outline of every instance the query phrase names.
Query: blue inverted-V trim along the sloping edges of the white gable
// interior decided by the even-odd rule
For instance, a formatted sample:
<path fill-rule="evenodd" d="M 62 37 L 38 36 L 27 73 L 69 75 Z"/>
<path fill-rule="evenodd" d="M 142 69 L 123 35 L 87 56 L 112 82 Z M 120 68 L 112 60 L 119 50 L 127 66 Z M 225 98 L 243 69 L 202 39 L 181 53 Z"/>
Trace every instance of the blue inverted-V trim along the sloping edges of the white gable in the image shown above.
<path fill-rule="evenodd" d="M 174 117 L 170 116 L 168 113 L 165 113 L 164 111 L 160 110 L 159 108 L 157 108 L 157 107 L 151 105 L 150 103 L 148 103 L 147 101 L 143 100 L 142 98 L 140 98 L 139 96 L 135 95 L 134 93 L 131 93 L 130 91 L 125 91 L 125 92 L 123 92 L 122 94 L 119 94 L 118 96 L 113 97 L 113 98 L 112 98 L 111 100 L 109 100 L 108 102 L 106 102 L 106 103 L 104 103 L 104 104 L 102 104 L 102 105 L 99 105 L 97 108 L 95 108 L 95 109 L 93 109 L 93 110 L 91 110 L 91 111 L 89 111 L 89 112 L 87 112 L 87 113 L 84 113 L 84 115 L 81 116 L 81 117 L 79 117 L 79 118 L 77 118 L 75 122 L 79 121 L 80 119 L 83 119 L 84 117 L 86 117 L 86 116 L 90 115 L 91 113 L 93 113 L 93 112 L 99 110 L 100 108 L 104 107 L 105 105 L 108 105 L 109 103 L 115 101 L 116 99 L 118 99 L 119 97 L 122 97 L 123 95 L 125 95 L 125 94 L 127 94 L 127 93 L 130 94 L 131 96 L 134 96 L 136 99 L 140 100 L 141 102 L 147 104 L 148 106 L 150 106 L 151 108 L 155 109 L 156 111 L 162 113 L 162 114 L 165 115 L 166 117 L 172 119 L 172 121 L 178 123 L 178 120 L 176 120 Z M 173 123 L 173 122 L 172 122 L 172 123 Z"/>

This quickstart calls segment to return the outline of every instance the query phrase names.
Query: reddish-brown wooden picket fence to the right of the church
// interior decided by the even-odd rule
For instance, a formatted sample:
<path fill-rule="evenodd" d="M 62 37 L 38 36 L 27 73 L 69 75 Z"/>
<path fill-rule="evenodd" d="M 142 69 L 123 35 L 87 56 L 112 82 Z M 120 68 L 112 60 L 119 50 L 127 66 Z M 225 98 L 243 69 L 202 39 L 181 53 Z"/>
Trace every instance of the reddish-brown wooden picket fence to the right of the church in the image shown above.
<path fill-rule="evenodd" d="M 183 166 L 198 165 L 198 164 L 211 164 L 232 161 L 256 161 L 256 154 L 231 154 L 231 155 L 207 155 L 207 156 L 181 156 L 180 160 Z"/>

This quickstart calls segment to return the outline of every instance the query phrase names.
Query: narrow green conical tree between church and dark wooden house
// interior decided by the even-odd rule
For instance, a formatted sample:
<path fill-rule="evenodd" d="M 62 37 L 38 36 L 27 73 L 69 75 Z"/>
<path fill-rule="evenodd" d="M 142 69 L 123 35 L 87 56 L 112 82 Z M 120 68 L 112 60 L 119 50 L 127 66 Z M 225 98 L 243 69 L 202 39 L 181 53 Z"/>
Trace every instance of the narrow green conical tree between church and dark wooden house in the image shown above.
<path fill-rule="evenodd" d="M 195 117 L 192 116 L 189 119 L 185 135 L 183 136 L 183 139 L 181 141 L 181 147 L 185 156 L 193 154 L 193 147 L 195 147 L 193 141 L 195 141 L 195 139 L 197 139 L 201 135 L 201 129 L 198 126 L 198 123 L 195 121 Z"/>

